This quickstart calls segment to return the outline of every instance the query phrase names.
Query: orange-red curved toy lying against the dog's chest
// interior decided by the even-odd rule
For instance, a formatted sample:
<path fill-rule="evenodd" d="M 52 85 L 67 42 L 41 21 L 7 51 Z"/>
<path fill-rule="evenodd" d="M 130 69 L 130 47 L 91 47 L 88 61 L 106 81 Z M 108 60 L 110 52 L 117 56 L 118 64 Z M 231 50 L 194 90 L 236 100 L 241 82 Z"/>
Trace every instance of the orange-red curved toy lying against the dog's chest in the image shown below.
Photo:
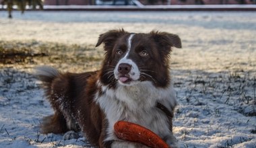
<path fill-rule="evenodd" d="M 115 134 L 119 139 L 141 143 L 148 147 L 170 148 L 158 135 L 150 129 L 135 123 L 118 121 L 114 125 Z"/>

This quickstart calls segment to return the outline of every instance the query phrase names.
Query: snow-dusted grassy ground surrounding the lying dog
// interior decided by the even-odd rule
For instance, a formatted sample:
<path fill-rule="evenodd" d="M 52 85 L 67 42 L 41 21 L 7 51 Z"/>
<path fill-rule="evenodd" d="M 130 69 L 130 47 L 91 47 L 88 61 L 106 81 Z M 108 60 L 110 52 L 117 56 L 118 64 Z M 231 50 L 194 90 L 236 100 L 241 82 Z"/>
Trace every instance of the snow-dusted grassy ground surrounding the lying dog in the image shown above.
<path fill-rule="evenodd" d="M 90 147 L 84 137 L 40 133 L 41 118 L 53 110 L 32 69 L 95 70 L 104 56 L 94 49 L 98 35 L 117 28 L 181 37 L 183 48 L 174 48 L 171 59 L 179 102 L 173 130 L 181 147 L 256 147 L 255 18 L 255 12 L 15 11 L 9 20 L 0 11 L 0 147 Z"/>

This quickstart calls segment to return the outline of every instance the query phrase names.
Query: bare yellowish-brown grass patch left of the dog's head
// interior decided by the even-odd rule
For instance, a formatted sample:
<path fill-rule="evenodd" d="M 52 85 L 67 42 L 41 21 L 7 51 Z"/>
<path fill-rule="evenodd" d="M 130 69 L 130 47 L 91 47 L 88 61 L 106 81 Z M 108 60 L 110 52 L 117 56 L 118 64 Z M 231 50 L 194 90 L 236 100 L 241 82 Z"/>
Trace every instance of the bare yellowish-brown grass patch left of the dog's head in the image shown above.
<path fill-rule="evenodd" d="M 0 41 L 0 64 L 88 65 L 102 61 L 102 51 L 91 46 L 37 42 Z"/>

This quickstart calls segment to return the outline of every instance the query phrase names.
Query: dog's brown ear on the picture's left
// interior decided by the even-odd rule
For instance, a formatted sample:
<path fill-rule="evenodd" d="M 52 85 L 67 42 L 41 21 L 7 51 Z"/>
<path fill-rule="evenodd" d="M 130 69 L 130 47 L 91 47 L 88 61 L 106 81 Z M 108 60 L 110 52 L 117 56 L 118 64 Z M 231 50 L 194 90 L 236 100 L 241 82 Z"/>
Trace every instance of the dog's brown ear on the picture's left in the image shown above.
<path fill-rule="evenodd" d="M 115 41 L 120 36 L 127 34 L 128 32 L 125 32 L 125 30 L 110 30 L 104 34 L 100 34 L 100 37 L 98 38 L 98 42 L 96 44 L 97 46 L 100 46 L 102 42 L 104 43 L 104 50 L 108 50 L 110 48 L 113 48 Z"/>

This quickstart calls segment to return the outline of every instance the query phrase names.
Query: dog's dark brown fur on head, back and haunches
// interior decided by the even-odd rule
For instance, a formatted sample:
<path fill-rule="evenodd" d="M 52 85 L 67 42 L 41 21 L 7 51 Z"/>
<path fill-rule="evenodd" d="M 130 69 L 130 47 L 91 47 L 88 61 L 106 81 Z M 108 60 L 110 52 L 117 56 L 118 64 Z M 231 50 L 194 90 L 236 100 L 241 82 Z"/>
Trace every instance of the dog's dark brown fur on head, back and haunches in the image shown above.
<path fill-rule="evenodd" d="M 115 57 L 117 46 L 127 48 L 123 42 L 129 34 L 124 30 L 112 30 L 100 35 L 96 46 L 104 43 L 104 50 L 106 50 L 100 71 L 63 74 L 54 69 L 39 69 L 38 76 L 43 81 L 45 94 L 55 110 L 53 116 L 43 119 L 42 133 L 65 133 L 69 130 L 82 130 L 92 145 L 111 147 L 113 141 L 104 141 L 107 136 L 106 128 L 108 127 L 106 114 L 94 98 L 96 94 L 101 96 L 105 93 L 97 85 L 98 81 L 107 85 L 108 88 L 115 89 L 117 87 L 117 80 L 111 78 L 113 76 L 108 73 L 108 69 L 113 68 L 113 65 L 118 62 L 118 59 L 115 59 L 117 58 Z M 181 48 L 179 37 L 165 32 L 150 32 L 150 34 L 137 34 L 134 40 L 137 40 L 134 44 L 140 47 L 137 50 L 152 48 L 149 52 L 154 57 L 154 61 L 151 59 L 135 61 L 138 65 L 148 63 L 145 68 L 151 69 L 148 70 L 148 75 L 151 75 L 151 77 L 141 77 L 139 81 L 152 81 L 155 87 L 166 87 L 170 83 L 169 65 L 166 59 L 170 54 L 171 46 Z M 137 50 L 134 53 L 131 52 L 133 59 L 136 59 L 136 52 L 139 52 Z M 160 71 L 160 73 L 151 73 L 150 71 Z M 162 110 L 162 114 L 166 114 L 170 131 L 172 131 L 174 105 L 171 110 L 168 110 L 165 106 L 160 105 L 159 107 L 159 104 L 156 106 Z"/>

